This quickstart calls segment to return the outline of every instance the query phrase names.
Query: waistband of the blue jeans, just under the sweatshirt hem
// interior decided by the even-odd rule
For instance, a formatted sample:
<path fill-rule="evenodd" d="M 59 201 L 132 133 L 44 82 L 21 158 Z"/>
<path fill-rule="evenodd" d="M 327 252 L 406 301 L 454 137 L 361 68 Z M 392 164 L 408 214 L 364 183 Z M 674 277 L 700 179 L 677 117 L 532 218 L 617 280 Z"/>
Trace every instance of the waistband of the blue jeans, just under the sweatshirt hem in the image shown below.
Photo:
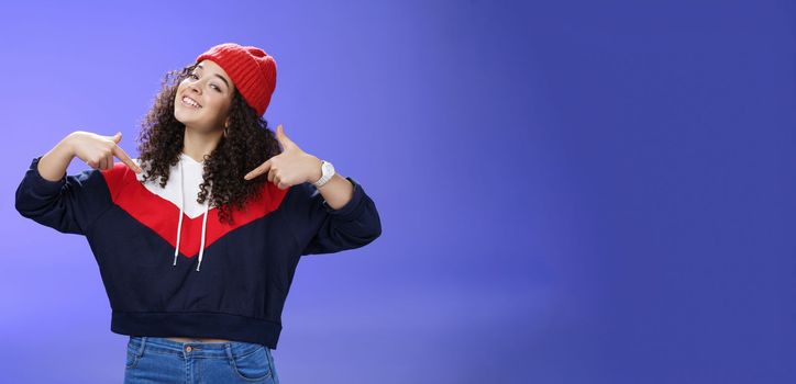
<path fill-rule="evenodd" d="M 259 348 L 266 348 L 263 345 L 245 341 L 180 342 L 163 337 L 150 336 L 131 336 L 128 347 L 132 348 L 139 354 L 147 351 L 177 355 L 190 354 L 195 358 L 228 358 L 230 355 L 245 355 Z"/>

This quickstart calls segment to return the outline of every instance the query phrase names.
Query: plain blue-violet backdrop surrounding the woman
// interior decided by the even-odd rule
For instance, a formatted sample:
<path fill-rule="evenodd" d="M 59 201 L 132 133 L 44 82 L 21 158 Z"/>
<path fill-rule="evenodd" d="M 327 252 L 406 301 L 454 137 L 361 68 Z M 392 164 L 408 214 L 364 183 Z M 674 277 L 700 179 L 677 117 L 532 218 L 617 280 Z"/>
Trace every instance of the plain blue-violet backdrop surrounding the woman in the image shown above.
<path fill-rule="evenodd" d="M 284 383 L 796 381 L 791 2 L 0 7 L 3 382 L 121 382 L 88 244 L 13 192 L 73 131 L 137 156 L 165 72 L 223 42 L 275 56 L 266 120 L 383 222 L 302 258 Z"/>

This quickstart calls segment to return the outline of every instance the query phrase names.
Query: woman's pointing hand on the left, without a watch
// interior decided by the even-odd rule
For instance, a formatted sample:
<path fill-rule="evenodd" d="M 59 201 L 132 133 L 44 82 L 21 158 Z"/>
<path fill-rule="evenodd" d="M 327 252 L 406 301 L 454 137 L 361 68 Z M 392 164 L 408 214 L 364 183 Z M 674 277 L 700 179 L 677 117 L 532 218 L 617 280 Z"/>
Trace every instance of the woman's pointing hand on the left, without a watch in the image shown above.
<path fill-rule="evenodd" d="M 113 168 L 113 157 L 117 157 L 135 173 L 141 173 L 141 167 L 119 146 L 121 139 L 121 132 L 113 136 L 102 136 L 85 131 L 69 134 L 71 153 L 89 167 L 100 170 L 111 169 Z"/>

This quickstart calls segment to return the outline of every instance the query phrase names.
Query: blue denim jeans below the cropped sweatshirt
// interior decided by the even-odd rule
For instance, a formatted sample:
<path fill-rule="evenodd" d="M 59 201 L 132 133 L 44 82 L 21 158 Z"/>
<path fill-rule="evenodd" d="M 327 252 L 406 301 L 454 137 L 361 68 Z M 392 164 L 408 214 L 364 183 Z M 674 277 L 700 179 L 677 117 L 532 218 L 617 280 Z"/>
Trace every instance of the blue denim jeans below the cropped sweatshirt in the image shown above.
<path fill-rule="evenodd" d="M 266 346 L 243 342 L 177 342 L 131 336 L 124 383 L 278 384 Z"/>

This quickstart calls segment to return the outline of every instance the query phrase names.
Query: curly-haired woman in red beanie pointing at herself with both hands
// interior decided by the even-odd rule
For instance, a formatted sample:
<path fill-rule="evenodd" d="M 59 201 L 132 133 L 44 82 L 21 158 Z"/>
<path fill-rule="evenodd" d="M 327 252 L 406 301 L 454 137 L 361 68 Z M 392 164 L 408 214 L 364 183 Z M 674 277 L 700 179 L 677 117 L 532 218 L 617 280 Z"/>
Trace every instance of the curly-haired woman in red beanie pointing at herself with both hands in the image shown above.
<path fill-rule="evenodd" d="M 272 351 L 299 258 L 380 235 L 360 183 L 267 128 L 275 87 L 264 50 L 213 46 L 167 75 L 137 159 L 121 133 L 78 131 L 16 189 L 22 216 L 86 236 L 111 331 L 130 336 L 125 383 L 278 383 Z M 67 176 L 75 157 L 92 169 Z"/>

